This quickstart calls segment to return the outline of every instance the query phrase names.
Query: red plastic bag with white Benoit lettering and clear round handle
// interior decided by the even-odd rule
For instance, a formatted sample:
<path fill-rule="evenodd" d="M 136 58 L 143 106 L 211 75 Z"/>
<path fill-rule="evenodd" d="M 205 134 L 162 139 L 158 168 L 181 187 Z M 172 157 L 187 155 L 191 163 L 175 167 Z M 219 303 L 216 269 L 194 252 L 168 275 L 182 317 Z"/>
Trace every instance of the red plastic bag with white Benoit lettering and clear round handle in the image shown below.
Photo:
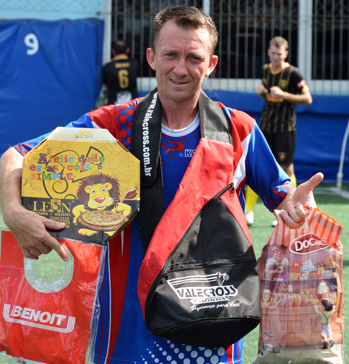
<path fill-rule="evenodd" d="M 94 348 L 105 246 L 59 239 L 62 277 L 42 278 L 11 232 L 1 232 L 0 354 L 28 363 L 85 363 Z M 96 304 L 95 304 L 96 303 Z"/>

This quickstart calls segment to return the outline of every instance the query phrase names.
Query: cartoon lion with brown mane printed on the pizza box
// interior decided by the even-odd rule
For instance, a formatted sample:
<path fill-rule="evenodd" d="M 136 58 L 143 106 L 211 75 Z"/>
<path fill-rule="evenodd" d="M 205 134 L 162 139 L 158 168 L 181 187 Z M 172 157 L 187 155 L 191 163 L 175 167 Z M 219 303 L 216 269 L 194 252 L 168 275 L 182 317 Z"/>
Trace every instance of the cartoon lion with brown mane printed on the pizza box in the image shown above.
<path fill-rule="evenodd" d="M 78 187 L 76 197 L 83 202 L 73 208 L 73 223 L 78 224 L 78 217 L 88 211 L 107 210 L 118 212 L 127 217 L 131 214 L 132 208 L 120 202 L 120 184 L 117 179 L 96 173 L 82 179 Z M 126 198 L 130 198 L 130 192 L 126 193 Z M 131 193 L 132 195 L 134 193 Z M 133 197 L 133 196 L 132 196 Z M 79 229 L 79 234 L 92 236 L 98 231 L 91 229 Z M 114 235 L 114 231 L 105 231 L 109 236 Z"/>

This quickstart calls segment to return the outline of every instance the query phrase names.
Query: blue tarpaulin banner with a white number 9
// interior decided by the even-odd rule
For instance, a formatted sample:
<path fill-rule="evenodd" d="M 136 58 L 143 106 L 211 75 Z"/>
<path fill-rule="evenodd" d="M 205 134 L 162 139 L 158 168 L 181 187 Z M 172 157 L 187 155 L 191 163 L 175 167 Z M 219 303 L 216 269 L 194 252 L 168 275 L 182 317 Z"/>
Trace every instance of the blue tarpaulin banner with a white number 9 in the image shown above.
<path fill-rule="evenodd" d="M 99 19 L 0 22 L 0 154 L 93 109 L 102 45 Z"/>

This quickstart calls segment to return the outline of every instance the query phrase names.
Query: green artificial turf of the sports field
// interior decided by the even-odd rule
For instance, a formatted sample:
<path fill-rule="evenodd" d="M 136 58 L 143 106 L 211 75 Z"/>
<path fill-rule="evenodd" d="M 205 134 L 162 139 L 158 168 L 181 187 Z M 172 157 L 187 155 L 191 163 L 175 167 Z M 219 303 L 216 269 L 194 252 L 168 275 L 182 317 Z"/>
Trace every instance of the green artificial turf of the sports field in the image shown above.
<path fill-rule="evenodd" d="M 318 207 L 324 213 L 336 219 L 343 227 L 344 231 L 341 236 L 343 244 L 344 259 L 343 259 L 343 281 L 344 281 L 344 297 L 345 297 L 345 312 L 349 312 L 349 184 L 345 184 L 342 190 L 337 190 L 335 184 L 322 183 L 314 190 L 315 199 Z M 261 201 L 257 202 L 254 212 L 254 224 L 250 227 L 250 233 L 254 250 L 257 258 L 260 256 L 263 246 L 269 240 L 273 231 L 271 222 L 274 216 L 269 213 Z M 3 222 L 0 218 L 0 226 Z M 61 261 L 56 259 L 57 255 L 50 254 L 50 259 L 46 259 L 38 266 L 39 273 L 45 276 L 46 279 L 57 279 L 60 272 L 64 269 Z M 58 271 L 58 272 L 57 272 Z M 259 328 L 245 337 L 243 350 L 243 363 L 252 364 L 257 357 L 258 350 L 258 334 Z M 0 364 L 14 364 L 15 362 L 5 356 L 0 355 Z M 349 316 L 345 317 L 345 341 L 344 341 L 344 363 L 349 363 Z M 195 363 L 192 363 L 195 364 Z"/>

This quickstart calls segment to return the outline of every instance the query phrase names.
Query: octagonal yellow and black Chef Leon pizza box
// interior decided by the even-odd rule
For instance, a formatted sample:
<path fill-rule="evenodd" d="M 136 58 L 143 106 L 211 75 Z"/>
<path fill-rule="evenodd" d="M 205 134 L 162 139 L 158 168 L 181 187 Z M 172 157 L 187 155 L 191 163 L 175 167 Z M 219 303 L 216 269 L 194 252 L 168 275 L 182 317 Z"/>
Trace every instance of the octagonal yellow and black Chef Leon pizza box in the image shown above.
<path fill-rule="evenodd" d="M 64 222 L 57 239 L 106 243 L 139 211 L 139 185 L 139 160 L 106 129 L 56 128 L 23 161 L 23 206 Z"/>

